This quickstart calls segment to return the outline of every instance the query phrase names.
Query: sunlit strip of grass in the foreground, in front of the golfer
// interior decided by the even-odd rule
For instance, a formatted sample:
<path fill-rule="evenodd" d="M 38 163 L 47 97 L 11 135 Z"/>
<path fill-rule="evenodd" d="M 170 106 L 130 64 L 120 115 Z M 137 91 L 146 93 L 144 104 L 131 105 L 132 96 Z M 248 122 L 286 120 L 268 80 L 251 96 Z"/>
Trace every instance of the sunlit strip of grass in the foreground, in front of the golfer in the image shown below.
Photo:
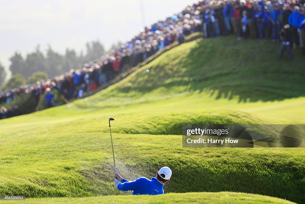
<path fill-rule="evenodd" d="M 7 201 L 5 203 L 15 203 L 16 201 Z M 156 203 L 245 203 L 245 204 L 289 204 L 286 200 L 279 198 L 272 198 L 263 195 L 254 195 L 246 193 L 233 193 L 233 192 L 217 192 L 217 193 L 185 193 L 176 194 L 170 193 L 166 195 L 138 195 L 138 196 L 100 196 L 100 197 L 86 197 L 86 198 L 30 198 L 23 200 L 22 203 L 143 203 L 143 204 L 156 204 Z M 0 201 L 1 203 L 1 201 Z M 3 202 L 4 203 L 4 202 Z"/>

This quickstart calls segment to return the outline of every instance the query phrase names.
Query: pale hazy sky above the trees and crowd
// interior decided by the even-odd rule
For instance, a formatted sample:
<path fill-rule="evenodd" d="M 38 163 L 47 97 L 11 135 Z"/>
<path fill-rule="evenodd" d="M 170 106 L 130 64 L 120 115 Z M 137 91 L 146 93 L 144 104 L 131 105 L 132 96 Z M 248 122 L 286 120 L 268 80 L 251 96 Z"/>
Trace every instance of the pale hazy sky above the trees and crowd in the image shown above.
<path fill-rule="evenodd" d="M 194 0 L 142 0 L 145 25 L 165 19 Z M 15 51 L 23 57 L 40 44 L 64 53 L 85 52 L 85 43 L 99 39 L 109 48 L 137 34 L 142 24 L 141 0 L 0 0 L 0 62 L 8 69 Z"/>

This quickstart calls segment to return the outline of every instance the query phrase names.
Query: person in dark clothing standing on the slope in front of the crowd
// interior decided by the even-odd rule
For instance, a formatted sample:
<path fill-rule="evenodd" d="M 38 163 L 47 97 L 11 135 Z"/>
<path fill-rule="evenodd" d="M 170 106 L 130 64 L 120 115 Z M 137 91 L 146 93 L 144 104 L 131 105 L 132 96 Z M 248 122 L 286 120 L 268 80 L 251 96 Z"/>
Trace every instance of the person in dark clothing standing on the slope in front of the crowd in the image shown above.
<path fill-rule="evenodd" d="M 292 60 L 292 49 L 291 49 L 291 42 L 292 42 L 292 36 L 291 36 L 291 31 L 290 31 L 290 27 L 289 24 L 286 24 L 280 33 L 280 38 L 282 40 L 282 46 L 280 49 L 280 56 L 279 59 L 283 58 L 283 52 L 285 49 L 287 49 L 288 54 L 289 54 L 289 60 Z"/>

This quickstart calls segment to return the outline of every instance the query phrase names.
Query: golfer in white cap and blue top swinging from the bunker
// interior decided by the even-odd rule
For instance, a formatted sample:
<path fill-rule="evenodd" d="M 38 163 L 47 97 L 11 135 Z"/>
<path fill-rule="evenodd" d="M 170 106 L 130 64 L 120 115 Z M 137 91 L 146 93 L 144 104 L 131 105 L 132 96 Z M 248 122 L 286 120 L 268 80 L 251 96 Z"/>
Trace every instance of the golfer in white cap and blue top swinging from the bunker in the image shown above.
<path fill-rule="evenodd" d="M 164 194 L 163 186 L 170 180 L 171 174 L 170 168 L 162 167 L 151 180 L 140 177 L 135 181 L 127 181 L 117 173 L 114 174 L 114 185 L 121 191 L 132 191 L 132 195 L 159 195 Z"/>

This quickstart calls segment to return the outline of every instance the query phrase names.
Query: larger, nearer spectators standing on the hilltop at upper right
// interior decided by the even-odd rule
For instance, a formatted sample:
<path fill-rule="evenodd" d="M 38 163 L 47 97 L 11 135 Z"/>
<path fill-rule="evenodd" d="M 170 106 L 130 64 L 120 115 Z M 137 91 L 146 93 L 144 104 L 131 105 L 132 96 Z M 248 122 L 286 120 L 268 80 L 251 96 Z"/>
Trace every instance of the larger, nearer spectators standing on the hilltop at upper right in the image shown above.
<path fill-rule="evenodd" d="M 204 35 L 234 32 L 238 39 L 250 37 L 280 41 L 280 30 L 289 24 L 292 41 L 304 47 L 305 1 L 211 1 L 202 8 Z"/>

